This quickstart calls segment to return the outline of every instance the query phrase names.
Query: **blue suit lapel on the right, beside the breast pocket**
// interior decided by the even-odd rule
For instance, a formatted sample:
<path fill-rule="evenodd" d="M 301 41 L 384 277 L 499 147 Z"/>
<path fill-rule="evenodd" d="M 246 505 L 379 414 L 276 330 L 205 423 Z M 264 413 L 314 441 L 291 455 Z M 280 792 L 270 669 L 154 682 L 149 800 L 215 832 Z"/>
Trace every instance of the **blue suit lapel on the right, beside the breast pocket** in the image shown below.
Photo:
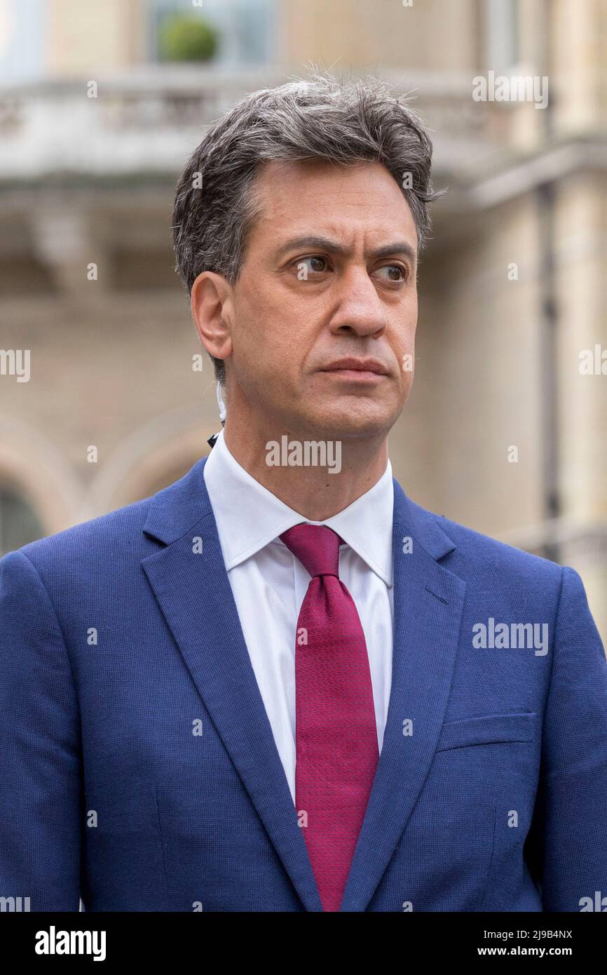
<path fill-rule="evenodd" d="M 465 582 L 436 561 L 455 548 L 436 516 L 406 498 L 397 481 L 394 486 L 391 696 L 341 911 L 366 909 L 424 785 L 451 687 L 466 591 Z M 412 550 L 404 554 L 406 538 Z M 403 734 L 407 721 L 410 736 Z"/>

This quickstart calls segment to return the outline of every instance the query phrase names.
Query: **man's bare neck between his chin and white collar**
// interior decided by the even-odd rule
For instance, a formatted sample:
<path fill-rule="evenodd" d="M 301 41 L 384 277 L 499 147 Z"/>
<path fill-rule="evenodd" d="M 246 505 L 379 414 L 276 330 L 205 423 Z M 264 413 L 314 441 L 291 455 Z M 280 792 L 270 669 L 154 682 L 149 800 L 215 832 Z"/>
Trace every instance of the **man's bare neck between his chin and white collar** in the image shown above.
<path fill-rule="evenodd" d="M 329 444 L 318 435 L 301 438 L 267 429 L 251 430 L 250 425 L 238 420 L 230 422 L 228 410 L 223 437 L 232 456 L 255 481 L 310 522 L 323 522 L 347 508 L 377 484 L 388 463 L 385 433 Z M 314 448 L 309 463 L 285 464 L 285 457 L 293 456 L 294 445 L 299 445 L 305 458 L 306 440 L 326 445 L 327 464 L 315 465 Z M 266 448 L 270 442 L 277 445 L 276 450 Z M 274 463 L 269 462 L 272 460 Z"/>

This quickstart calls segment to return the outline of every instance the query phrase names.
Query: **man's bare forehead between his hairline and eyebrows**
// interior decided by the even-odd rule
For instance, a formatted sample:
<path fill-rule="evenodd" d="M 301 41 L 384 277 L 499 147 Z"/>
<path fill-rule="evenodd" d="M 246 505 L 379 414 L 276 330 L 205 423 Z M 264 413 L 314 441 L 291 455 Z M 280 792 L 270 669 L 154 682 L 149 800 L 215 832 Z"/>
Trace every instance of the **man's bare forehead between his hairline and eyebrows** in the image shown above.
<path fill-rule="evenodd" d="M 260 168 L 254 188 L 261 211 L 251 237 L 270 237 L 278 243 L 278 236 L 293 230 L 360 228 L 380 236 L 398 231 L 416 244 L 406 199 L 381 163 L 272 161 Z"/>

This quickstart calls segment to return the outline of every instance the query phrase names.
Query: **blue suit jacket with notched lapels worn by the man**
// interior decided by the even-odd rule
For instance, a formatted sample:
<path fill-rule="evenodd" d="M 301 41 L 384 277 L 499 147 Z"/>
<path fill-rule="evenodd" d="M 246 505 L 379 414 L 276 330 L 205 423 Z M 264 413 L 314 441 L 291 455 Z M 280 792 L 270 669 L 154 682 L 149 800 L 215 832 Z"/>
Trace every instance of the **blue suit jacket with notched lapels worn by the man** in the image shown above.
<path fill-rule="evenodd" d="M 32 911 L 80 895 L 322 910 L 204 465 L 0 562 L 0 896 Z M 607 664 L 579 575 L 395 481 L 394 585 L 390 708 L 342 910 L 607 895 Z M 490 619 L 547 624 L 548 652 L 474 645 Z"/>

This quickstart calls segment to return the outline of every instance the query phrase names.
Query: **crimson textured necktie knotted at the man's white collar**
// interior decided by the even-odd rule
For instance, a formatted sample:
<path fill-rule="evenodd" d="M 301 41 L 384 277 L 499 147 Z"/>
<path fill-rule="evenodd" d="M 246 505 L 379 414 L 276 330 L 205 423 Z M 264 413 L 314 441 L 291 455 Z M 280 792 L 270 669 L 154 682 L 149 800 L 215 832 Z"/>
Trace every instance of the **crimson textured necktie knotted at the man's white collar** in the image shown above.
<path fill-rule="evenodd" d="M 324 525 L 280 536 L 312 576 L 295 635 L 295 805 L 324 911 L 339 911 L 379 760 L 369 661 Z"/>

